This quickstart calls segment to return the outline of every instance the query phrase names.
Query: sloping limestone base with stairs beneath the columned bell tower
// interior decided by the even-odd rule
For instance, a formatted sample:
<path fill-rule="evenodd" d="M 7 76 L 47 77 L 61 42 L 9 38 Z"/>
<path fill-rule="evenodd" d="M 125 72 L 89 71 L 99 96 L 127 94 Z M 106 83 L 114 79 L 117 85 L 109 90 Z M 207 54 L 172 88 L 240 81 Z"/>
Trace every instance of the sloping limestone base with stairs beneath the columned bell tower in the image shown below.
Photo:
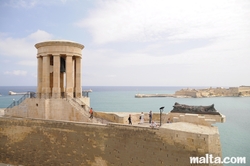
<path fill-rule="evenodd" d="M 5 111 L 5 115 L 66 121 L 89 122 L 89 114 L 76 110 L 66 99 L 27 98 L 20 105 Z"/>

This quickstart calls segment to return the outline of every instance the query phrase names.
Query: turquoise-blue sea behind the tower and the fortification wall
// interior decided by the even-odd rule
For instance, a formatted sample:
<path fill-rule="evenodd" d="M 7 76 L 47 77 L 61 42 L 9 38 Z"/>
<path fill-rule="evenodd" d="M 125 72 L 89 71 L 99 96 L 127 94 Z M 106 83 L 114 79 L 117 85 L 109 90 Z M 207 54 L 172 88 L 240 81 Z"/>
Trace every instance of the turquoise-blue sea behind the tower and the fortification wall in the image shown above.
<path fill-rule="evenodd" d="M 90 105 L 94 111 L 102 112 L 149 112 L 163 113 L 173 109 L 175 102 L 187 105 L 208 106 L 214 104 L 215 109 L 226 116 L 225 123 L 216 123 L 219 128 L 223 157 L 246 157 L 246 165 L 250 165 L 250 97 L 211 97 L 211 98 L 173 98 L 153 97 L 135 98 L 135 94 L 174 94 L 182 88 L 208 87 L 160 87 L 160 86 L 83 86 L 83 90 L 91 89 Z M 228 87 L 225 87 L 228 88 Z M 22 95 L 9 95 L 13 92 L 36 92 L 36 86 L 0 86 L 0 108 L 8 107 Z M 225 164 L 227 166 L 235 164 Z M 237 164 L 236 164 L 237 165 Z"/>

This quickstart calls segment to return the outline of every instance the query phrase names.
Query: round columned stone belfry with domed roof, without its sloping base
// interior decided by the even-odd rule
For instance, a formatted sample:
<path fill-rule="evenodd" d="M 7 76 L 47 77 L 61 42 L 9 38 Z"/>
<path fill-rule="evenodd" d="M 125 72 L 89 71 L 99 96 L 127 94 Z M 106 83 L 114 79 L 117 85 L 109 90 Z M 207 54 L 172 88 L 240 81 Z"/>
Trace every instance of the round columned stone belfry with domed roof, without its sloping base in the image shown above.
<path fill-rule="evenodd" d="M 81 58 L 83 45 L 55 40 L 37 43 L 37 97 L 82 97 Z"/>

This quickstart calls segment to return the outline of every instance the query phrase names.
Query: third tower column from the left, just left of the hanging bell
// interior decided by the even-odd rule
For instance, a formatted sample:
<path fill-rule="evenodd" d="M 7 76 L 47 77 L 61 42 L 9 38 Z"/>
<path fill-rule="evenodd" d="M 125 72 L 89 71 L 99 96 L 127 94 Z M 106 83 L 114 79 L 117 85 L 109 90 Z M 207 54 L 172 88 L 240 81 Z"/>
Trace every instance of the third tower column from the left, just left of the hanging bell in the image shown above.
<path fill-rule="evenodd" d="M 60 55 L 53 54 L 53 88 L 52 97 L 60 98 Z"/>

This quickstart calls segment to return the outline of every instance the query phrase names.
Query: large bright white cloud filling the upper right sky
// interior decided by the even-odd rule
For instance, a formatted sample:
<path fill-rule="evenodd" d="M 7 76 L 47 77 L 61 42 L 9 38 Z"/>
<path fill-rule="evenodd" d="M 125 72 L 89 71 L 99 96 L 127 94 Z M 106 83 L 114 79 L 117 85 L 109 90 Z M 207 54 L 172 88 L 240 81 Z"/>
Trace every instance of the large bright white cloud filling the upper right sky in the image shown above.
<path fill-rule="evenodd" d="M 218 38 L 249 32 L 247 1 L 137 0 L 98 1 L 89 17 L 77 23 L 86 27 L 96 43 L 119 41 L 173 42 Z"/>

